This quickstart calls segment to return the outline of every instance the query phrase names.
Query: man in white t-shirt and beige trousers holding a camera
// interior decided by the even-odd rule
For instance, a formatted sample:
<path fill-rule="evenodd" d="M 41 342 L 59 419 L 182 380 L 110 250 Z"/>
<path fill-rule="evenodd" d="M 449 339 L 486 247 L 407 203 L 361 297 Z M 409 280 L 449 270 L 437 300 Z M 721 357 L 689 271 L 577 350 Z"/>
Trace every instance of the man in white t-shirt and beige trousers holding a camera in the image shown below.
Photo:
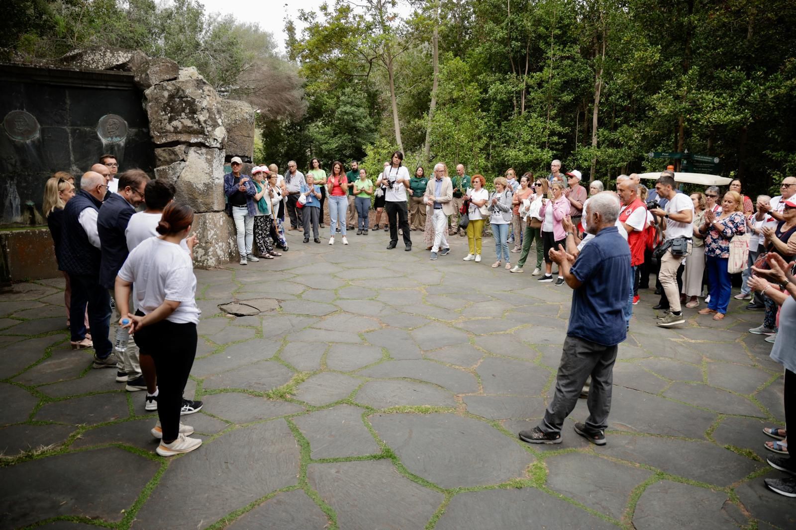
<path fill-rule="evenodd" d="M 680 290 L 677 288 L 677 269 L 680 268 L 685 256 L 691 253 L 691 237 L 693 236 L 694 205 L 685 193 L 677 193 L 674 172 L 665 170 L 655 181 L 655 192 L 658 197 L 667 199 L 665 209 L 650 208 L 661 223 L 664 242 L 655 249 L 661 260 L 661 286 L 669 300 L 669 313 L 657 325 L 668 328 L 672 325 L 684 324 L 680 306 Z M 663 252 L 661 254 L 661 251 Z"/>

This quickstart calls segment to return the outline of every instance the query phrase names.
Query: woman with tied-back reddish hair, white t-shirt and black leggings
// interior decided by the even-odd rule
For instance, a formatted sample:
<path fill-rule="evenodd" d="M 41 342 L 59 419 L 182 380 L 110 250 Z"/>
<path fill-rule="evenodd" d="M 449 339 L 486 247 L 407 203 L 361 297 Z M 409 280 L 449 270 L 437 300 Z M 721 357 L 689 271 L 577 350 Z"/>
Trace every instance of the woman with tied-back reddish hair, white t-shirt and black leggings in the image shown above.
<path fill-rule="evenodd" d="M 161 456 L 188 453 L 201 446 L 189 438 L 193 427 L 180 423 L 182 392 L 188 382 L 197 351 L 197 324 L 200 310 L 195 294 L 197 279 L 193 263 L 180 247 L 193 224 L 193 208 L 170 203 L 158 223 L 159 237 L 142 241 L 127 256 L 116 277 L 119 314 L 131 322 L 119 325 L 130 329 L 141 353 L 154 360 L 158 374 L 158 423 L 152 429 L 162 438 Z M 131 284 L 135 283 L 138 310 L 127 306 Z"/>

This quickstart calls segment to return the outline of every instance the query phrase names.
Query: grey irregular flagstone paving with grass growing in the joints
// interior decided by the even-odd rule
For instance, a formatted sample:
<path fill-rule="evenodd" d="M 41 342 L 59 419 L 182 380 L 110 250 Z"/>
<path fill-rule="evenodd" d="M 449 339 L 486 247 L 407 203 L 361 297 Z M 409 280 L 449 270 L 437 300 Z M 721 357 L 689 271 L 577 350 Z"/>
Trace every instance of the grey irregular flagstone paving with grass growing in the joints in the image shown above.
<path fill-rule="evenodd" d="M 171 459 L 143 392 L 69 349 L 62 280 L 0 294 L 0 527 L 796 525 L 763 485 L 779 473 L 761 428 L 784 414 L 782 368 L 747 333 L 762 314 L 733 300 L 723 322 L 689 310 L 661 329 L 642 291 L 607 446 L 572 431 L 583 400 L 561 445 L 529 446 L 517 431 L 549 402 L 568 287 L 490 268 L 486 239 L 483 263 L 459 237 L 434 262 L 383 232 L 349 240 L 196 271 L 186 396 L 205 407 L 184 420 L 204 445 Z"/>

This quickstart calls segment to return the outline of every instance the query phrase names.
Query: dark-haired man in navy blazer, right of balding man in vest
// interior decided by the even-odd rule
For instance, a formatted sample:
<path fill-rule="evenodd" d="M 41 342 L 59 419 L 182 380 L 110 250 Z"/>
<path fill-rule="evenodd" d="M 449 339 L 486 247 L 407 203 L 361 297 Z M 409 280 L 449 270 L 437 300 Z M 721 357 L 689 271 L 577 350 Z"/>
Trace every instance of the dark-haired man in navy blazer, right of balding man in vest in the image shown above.
<path fill-rule="evenodd" d="M 108 290 L 111 296 L 115 296 L 114 285 L 116 274 L 122 268 L 124 260 L 127 259 L 127 223 L 135 213 L 135 207 L 144 201 L 144 188 L 150 178 L 142 170 L 127 170 L 119 175 L 118 188 L 116 193 L 109 193 L 100 208 L 97 216 L 97 232 L 100 235 L 100 285 Z M 131 291 L 132 293 L 132 291 Z M 132 298 L 132 296 L 131 296 Z M 114 298 L 115 300 L 115 298 Z M 128 301 L 128 307 L 132 307 Z M 115 304 L 119 307 L 119 303 Z M 125 315 L 127 316 L 127 315 Z M 115 311 L 114 325 L 111 330 L 115 337 L 116 326 L 122 315 Z M 141 375 L 139 364 L 139 349 L 135 341 L 127 341 L 127 348 L 124 353 L 116 353 L 119 357 L 119 364 L 116 367 L 116 380 L 119 383 L 127 383 L 127 391 L 146 390 L 146 382 Z"/>

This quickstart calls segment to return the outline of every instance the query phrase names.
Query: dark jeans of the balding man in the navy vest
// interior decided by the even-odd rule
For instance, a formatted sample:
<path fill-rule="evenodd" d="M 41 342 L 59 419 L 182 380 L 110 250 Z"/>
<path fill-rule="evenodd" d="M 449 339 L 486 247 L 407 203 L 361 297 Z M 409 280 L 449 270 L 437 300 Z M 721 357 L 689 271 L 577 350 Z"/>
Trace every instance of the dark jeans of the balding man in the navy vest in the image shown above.
<path fill-rule="evenodd" d="M 92 342 L 94 351 L 100 359 L 111 355 L 111 295 L 107 289 L 100 286 L 99 276 L 92 275 L 69 275 L 69 283 L 72 285 L 72 306 L 69 314 L 83 314 L 83 308 L 88 304 L 88 323 L 92 329 Z M 82 341 L 80 329 L 85 333 L 85 326 L 80 318 L 72 318 L 69 322 L 69 330 L 72 333 L 72 341 Z"/>

